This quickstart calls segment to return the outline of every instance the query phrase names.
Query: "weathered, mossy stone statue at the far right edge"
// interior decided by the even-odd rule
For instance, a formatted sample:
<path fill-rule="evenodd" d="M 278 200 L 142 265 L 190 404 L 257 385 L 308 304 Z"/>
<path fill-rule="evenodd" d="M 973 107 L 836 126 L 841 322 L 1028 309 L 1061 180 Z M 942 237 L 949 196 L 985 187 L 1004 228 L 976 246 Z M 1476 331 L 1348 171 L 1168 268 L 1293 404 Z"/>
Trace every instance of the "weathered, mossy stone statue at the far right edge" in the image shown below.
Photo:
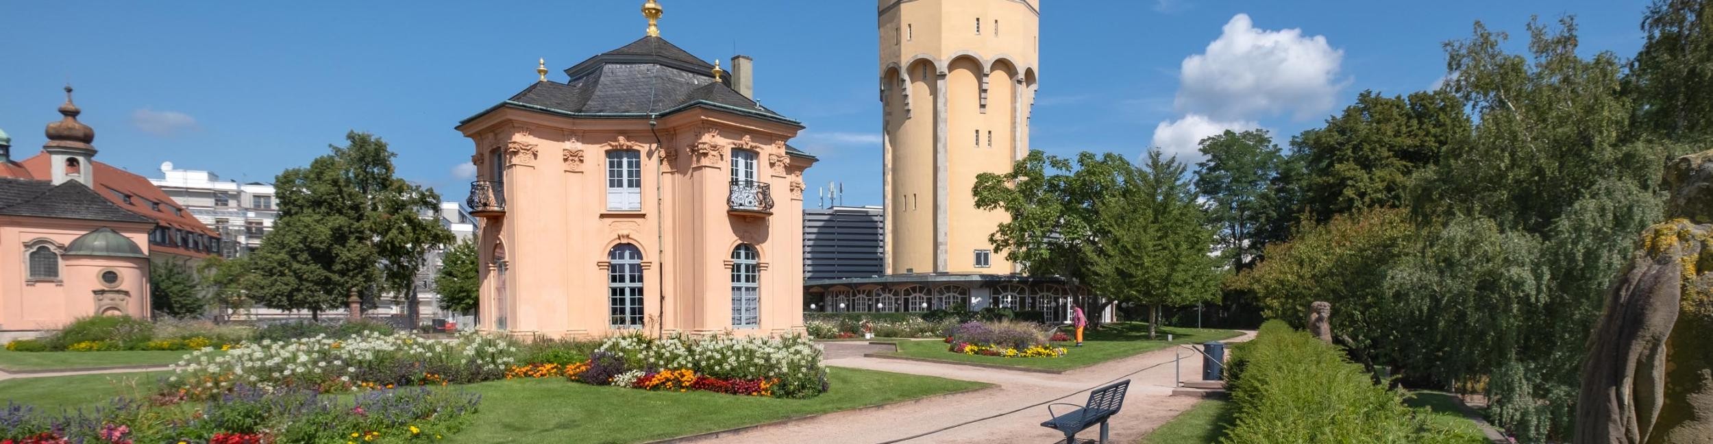
<path fill-rule="evenodd" d="M 1574 442 L 1713 442 L 1713 151 L 1677 158 L 1588 341 Z"/>

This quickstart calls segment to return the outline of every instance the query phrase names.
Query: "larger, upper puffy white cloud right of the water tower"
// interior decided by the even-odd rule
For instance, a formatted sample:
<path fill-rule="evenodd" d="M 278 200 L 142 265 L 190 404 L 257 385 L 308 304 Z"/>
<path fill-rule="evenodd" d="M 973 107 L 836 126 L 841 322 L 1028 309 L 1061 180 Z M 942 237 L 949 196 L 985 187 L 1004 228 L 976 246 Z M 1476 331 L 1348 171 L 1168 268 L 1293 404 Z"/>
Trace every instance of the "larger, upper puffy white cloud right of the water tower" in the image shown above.
<path fill-rule="evenodd" d="M 1329 111 L 1350 84 L 1338 79 L 1343 58 L 1326 36 L 1256 29 L 1249 14 L 1237 14 L 1204 53 L 1184 58 L 1173 106 L 1221 120 L 1257 113 L 1310 118 Z"/>

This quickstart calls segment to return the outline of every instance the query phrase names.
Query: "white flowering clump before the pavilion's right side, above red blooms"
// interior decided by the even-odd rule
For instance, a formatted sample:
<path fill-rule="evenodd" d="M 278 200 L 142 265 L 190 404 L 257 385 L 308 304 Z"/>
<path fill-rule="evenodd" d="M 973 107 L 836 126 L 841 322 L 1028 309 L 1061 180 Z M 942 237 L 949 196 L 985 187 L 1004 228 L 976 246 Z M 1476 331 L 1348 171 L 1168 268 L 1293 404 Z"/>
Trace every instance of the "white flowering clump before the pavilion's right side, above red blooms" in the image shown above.
<path fill-rule="evenodd" d="M 827 391 L 827 367 L 809 336 L 683 336 L 663 339 L 642 334 L 610 338 L 598 351 L 618 355 L 625 369 L 658 372 L 689 369 L 716 379 L 778 381 L 776 398 L 810 398 Z M 615 386 L 624 386 L 617 382 Z"/>

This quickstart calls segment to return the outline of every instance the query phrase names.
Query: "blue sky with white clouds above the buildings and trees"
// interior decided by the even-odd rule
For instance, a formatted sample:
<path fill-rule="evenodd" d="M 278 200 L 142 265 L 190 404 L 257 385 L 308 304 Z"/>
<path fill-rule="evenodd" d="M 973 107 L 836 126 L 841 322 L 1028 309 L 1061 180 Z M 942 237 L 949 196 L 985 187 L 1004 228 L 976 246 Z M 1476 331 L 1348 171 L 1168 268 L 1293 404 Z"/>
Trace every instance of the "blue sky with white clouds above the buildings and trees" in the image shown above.
<path fill-rule="evenodd" d="M 159 177 L 161 161 L 272 182 L 346 130 L 384 137 L 399 173 L 463 199 L 471 142 L 452 127 L 534 81 L 642 36 L 641 0 L 581 2 L 0 2 L 0 129 L 41 146 L 60 86 L 77 87 L 98 159 Z M 666 39 L 702 58 L 755 58 L 755 93 L 809 129 L 810 194 L 880 202 L 872 0 L 661 0 Z M 1444 75 L 1441 43 L 1473 21 L 1521 38 L 1574 14 L 1585 53 L 1631 57 L 1644 0 L 1192 2 L 1047 0 L 1031 146 L 1113 151 L 1221 127 L 1283 144 L 1358 91 L 1406 94 Z M 1242 14 L 1242 15 L 1240 15 Z M 1513 39 L 1511 48 L 1523 41 Z M 1185 58 L 1192 62 L 1185 63 Z M 815 202 L 807 202 L 814 206 Z"/>

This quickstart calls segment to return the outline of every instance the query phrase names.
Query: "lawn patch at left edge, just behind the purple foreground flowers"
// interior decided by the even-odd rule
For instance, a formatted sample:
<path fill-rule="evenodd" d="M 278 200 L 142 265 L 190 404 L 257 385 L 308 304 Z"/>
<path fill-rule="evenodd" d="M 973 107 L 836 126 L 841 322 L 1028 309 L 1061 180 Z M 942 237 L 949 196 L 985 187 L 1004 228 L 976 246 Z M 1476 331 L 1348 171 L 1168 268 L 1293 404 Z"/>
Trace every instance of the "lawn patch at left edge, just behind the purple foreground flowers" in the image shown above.
<path fill-rule="evenodd" d="M 171 374 L 173 372 L 130 372 L 7 379 L 0 381 L 0 405 L 19 403 L 36 408 L 58 410 L 96 406 L 118 396 L 149 399 L 149 396 L 154 394 L 158 379 Z"/>

